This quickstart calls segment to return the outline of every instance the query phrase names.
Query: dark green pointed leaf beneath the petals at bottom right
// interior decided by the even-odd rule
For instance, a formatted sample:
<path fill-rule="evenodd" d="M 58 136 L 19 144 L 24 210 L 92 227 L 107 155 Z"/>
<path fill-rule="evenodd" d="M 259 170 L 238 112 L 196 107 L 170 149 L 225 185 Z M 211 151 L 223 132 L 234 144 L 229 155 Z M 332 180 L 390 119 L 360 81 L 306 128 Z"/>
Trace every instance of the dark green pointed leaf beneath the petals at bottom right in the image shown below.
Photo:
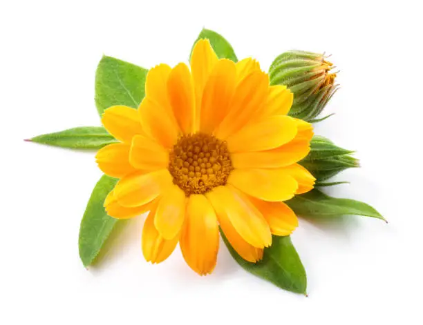
<path fill-rule="evenodd" d="M 257 263 L 250 263 L 239 256 L 229 244 L 223 232 L 220 231 L 220 233 L 229 253 L 245 270 L 272 282 L 279 288 L 306 295 L 306 270 L 304 270 L 297 250 L 292 245 L 290 236 L 273 236 L 272 246 L 265 248 L 263 259 Z"/>

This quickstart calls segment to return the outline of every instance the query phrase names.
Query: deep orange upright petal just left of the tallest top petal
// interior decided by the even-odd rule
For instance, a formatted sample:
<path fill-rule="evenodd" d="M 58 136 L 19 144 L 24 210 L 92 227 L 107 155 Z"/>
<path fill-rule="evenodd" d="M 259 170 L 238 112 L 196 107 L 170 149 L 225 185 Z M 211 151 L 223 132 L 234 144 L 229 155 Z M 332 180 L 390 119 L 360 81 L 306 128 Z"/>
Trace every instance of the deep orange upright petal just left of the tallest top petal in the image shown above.
<path fill-rule="evenodd" d="M 185 63 L 172 69 L 167 81 L 167 93 L 173 114 L 184 134 L 194 130 L 194 86 L 191 72 Z"/>

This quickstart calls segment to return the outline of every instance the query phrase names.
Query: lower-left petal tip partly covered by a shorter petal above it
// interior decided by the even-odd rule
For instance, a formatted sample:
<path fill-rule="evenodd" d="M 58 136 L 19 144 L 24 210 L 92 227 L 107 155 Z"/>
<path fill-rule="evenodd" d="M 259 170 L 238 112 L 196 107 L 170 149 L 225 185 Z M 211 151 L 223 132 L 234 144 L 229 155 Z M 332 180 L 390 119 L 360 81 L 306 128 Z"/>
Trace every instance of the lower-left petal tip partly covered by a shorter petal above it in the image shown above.
<path fill-rule="evenodd" d="M 156 207 L 154 207 L 144 223 L 142 228 L 142 255 L 151 263 L 160 263 L 167 259 L 175 250 L 178 244 L 179 236 L 176 235 L 173 239 L 164 239 L 158 233 L 154 226 L 154 216 L 156 215 Z"/>

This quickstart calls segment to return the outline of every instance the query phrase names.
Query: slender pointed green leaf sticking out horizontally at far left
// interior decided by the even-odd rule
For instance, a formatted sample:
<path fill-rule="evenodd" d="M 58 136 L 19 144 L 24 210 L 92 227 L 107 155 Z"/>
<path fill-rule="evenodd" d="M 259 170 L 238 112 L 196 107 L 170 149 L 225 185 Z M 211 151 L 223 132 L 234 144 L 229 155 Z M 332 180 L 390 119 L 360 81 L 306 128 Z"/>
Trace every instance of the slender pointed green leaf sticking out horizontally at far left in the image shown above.
<path fill-rule="evenodd" d="M 48 144 L 62 148 L 100 149 L 107 144 L 113 144 L 116 139 L 109 135 L 102 126 L 82 126 L 68 130 L 39 135 L 26 141 Z"/>

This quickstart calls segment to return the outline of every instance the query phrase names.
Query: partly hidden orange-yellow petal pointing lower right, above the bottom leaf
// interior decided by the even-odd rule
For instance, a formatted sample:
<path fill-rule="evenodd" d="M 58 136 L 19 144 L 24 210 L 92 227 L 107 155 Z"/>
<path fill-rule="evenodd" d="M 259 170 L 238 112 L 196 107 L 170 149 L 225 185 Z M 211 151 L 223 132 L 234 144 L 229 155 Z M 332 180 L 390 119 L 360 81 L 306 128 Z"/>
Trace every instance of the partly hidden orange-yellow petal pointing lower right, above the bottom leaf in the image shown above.
<path fill-rule="evenodd" d="M 267 202 L 255 197 L 250 197 L 250 201 L 265 217 L 273 235 L 288 236 L 297 228 L 297 215 L 283 202 Z"/>

